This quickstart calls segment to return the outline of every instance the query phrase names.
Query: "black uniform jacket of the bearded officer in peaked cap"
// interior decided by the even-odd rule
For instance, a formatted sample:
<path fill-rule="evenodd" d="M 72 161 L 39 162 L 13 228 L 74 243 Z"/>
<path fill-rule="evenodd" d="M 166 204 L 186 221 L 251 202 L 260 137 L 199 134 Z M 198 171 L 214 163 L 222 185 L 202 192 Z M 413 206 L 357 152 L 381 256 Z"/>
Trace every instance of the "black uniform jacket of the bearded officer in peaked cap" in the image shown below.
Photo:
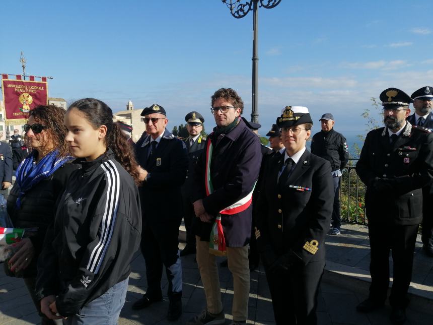
<path fill-rule="evenodd" d="M 370 222 L 416 225 L 422 219 L 421 187 L 433 179 L 433 135 L 406 122 L 391 145 L 387 128 L 370 131 L 356 172 L 367 185 Z"/>

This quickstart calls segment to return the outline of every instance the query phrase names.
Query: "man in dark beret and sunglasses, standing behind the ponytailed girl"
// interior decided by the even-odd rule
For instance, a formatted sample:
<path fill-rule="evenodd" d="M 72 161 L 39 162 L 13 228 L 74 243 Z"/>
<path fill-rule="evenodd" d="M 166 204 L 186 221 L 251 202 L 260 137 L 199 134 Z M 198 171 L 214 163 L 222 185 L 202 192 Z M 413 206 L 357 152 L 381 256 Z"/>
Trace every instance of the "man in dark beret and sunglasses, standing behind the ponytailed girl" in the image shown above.
<path fill-rule="evenodd" d="M 168 280 L 170 300 L 167 318 L 176 320 L 182 313 L 182 265 L 178 235 L 182 221 L 181 186 L 188 168 L 185 144 L 166 128 L 165 109 L 158 104 L 141 112 L 146 132 L 135 144 L 141 186 L 141 252 L 146 261 L 148 289 L 134 302 L 132 309 L 141 309 L 162 300 L 163 266 Z"/>

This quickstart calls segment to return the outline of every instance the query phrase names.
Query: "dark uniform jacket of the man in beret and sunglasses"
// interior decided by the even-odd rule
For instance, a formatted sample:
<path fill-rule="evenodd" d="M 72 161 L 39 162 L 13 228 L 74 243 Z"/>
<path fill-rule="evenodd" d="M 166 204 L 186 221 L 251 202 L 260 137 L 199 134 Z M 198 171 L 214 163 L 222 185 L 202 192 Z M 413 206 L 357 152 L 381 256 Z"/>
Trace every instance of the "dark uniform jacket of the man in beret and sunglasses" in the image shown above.
<path fill-rule="evenodd" d="M 149 173 L 139 186 L 143 223 L 160 225 L 182 219 L 181 186 L 188 169 L 188 153 L 182 140 L 165 129 L 153 159 L 148 161 L 151 136 L 144 133 L 135 144 L 138 164 Z"/>

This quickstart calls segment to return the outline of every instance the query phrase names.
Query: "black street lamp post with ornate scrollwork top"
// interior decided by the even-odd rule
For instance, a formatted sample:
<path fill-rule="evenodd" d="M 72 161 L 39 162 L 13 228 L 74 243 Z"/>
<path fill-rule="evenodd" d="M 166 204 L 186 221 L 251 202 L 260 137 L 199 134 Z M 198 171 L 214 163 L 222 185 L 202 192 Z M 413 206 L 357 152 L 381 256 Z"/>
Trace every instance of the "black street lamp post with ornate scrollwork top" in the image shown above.
<path fill-rule="evenodd" d="M 271 9 L 281 2 L 281 0 L 251 0 L 241 4 L 241 0 L 222 0 L 230 9 L 230 13 L 235 18 L 245 17 L 251 10 L 253 11 L 253 87 L 251 96 L 251 121 L 259 122 L 259 113 L 257 108 L 257 69 L 259 57 L 257 55 L 257 30 L 258 30 L 258 8 L 263 7 Z M 236 9 L 235 9 L 236 7 Z"/>

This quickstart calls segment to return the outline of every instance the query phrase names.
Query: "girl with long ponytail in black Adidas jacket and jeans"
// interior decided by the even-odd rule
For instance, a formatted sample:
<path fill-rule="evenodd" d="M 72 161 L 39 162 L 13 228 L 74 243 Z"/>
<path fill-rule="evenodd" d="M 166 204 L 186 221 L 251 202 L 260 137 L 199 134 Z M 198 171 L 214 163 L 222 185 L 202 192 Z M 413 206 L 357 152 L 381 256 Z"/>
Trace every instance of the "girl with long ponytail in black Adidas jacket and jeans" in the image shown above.
<path fill-rule="evenodd" d="M 66 111 L 65 140 L 81 169 L 57 201 L 38 261 L 42 312 L 64 324 L 115 324 L 140 243 L 137 164 L 111 109 L 85 98 Z"/>

